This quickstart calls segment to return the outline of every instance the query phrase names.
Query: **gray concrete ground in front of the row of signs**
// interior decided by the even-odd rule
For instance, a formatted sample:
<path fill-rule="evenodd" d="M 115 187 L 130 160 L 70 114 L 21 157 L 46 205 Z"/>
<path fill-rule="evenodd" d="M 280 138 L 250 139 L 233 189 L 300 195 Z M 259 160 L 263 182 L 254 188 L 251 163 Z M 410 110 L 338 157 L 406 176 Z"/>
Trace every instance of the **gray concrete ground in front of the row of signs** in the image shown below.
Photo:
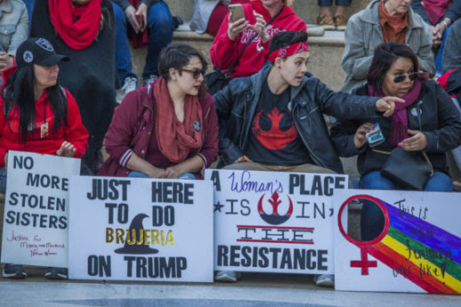
<path fill-rule="evenodd" d="M 460 306 L 453 295 L 341 292 L 310 276 L 247 274 L 234 284 L 0 281 L 2 306 Z"/>

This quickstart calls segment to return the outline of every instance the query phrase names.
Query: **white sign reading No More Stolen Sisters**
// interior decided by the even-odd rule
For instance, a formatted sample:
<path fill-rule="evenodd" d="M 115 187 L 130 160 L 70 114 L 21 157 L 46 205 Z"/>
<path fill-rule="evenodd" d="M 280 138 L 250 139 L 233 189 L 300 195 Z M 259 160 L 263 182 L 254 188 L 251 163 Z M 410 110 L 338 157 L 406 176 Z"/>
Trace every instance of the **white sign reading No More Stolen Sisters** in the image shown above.
<path fill-rule="evenodd" d="M 68 266 L 68 183 L 80 160 L 8 152 L 2 263 Z"/>

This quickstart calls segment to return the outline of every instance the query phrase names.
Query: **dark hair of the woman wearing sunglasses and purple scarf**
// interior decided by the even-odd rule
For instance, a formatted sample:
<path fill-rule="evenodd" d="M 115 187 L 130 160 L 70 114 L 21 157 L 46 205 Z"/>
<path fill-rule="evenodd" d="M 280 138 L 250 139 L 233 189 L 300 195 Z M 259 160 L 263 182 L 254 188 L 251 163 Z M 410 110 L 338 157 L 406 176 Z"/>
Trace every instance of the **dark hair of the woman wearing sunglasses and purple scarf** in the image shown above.
<path fill-rule="evenodd" d="M 382 92 L 385 74 L 399 58 L 411 59 L 414 71 L 418 71 L 417 55 L 405 43 L 388 42 L 379 44 L 371 61 L 368 83 Z"/>

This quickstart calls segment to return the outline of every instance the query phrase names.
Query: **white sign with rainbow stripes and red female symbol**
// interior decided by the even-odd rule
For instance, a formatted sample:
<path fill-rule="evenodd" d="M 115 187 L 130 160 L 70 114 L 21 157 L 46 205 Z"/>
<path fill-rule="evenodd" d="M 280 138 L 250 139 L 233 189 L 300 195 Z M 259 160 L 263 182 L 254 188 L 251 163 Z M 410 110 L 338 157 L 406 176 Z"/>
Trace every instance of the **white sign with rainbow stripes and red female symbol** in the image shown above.
<path fill-rule="evenodd" d="M 369 201 L 384 213 L 377 238 L 347 235 L 346 206 Z M 335 193 L 335 288 L 461 293 L 461 195 L 349 190 Z"/>

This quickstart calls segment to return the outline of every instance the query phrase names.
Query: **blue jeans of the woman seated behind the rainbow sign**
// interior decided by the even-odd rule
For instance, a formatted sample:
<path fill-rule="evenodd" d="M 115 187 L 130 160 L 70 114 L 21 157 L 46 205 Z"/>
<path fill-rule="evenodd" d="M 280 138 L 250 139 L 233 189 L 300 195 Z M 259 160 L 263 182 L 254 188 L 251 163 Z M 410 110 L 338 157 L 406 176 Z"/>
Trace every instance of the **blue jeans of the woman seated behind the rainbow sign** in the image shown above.
<path fill-rule="evenodd" d="M 382 177 L 379 171 L 371 171 L 360 180 L 360 187 L 367 190 L 405 190 L 391 180 Z M 451 179 L 441 171 L 434 171 L 425 184 L 425 191 L 452 192 Z M 378 205 L 370 201 L 363 201 L 361 215 L 362 240 L 369 241 L 378 237 L 384 228 L 384 215 Z"/>

